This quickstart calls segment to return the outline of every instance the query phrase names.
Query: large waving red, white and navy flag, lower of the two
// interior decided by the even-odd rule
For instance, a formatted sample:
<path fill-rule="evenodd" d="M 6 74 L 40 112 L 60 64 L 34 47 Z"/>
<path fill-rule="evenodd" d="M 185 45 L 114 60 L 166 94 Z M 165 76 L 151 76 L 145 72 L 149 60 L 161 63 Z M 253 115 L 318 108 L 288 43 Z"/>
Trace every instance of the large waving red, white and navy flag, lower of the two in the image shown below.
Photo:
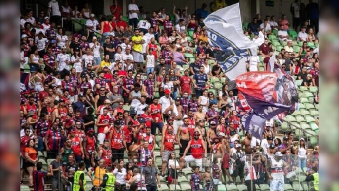
<path fill-rule="evenodd" d="M 277 64 L 274 72 L 247 72 L 236 78 L 237 106 L 245 113 L 242 123 L 259 139 L 266 120 L 294 111 L 298 104 L 294 79 Z"/>

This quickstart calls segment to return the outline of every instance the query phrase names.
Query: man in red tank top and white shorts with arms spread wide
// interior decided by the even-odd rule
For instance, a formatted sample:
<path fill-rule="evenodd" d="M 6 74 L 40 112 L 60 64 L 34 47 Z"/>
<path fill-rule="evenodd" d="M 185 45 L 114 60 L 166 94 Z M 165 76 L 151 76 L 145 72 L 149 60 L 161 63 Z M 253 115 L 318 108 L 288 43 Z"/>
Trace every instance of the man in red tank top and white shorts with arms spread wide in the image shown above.
<path fill-rule="evenodd" d="M 194 131 L 193 139 L 188 142 L 187 148 L 183 156 L 180 158 L 180 171 L 183 169 L 184 162 L 192 162 L 194 161 L 197 166 L 203 168 L 203 156 L 207 157 L 207 150 L 205 141 L 199 139 L 200 133 L 198 131 Z M 190 149 L 191 155 L 186 156 L 188 150 Z"/>

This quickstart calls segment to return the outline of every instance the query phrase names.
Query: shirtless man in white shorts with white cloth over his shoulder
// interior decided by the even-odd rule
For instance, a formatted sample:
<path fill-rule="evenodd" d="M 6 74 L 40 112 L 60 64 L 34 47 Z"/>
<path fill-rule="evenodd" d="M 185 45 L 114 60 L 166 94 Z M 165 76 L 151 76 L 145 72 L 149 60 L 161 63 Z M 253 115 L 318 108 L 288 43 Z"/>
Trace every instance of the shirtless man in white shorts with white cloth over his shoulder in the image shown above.
<path fill-rule="evenodd" d="M 179 97 L 177 97 L 175 99 L 175 103 L 172 104 L 171 106 L 169 106 L 166 110 L 165 110 L 165 114 L 169 115 L 170 117 L 172 117 L 174 119 L 173 121 L 173 128 L 174 128 L 174 134 L 177 134 L 178 132 L 178 128 L 183 125 L 183 117 L 185 115 L 185 111 L 183 106 L 180 105 L 181 103 L 181 99 Z M 170 114 L 169 114 L 170 111 Z"/>

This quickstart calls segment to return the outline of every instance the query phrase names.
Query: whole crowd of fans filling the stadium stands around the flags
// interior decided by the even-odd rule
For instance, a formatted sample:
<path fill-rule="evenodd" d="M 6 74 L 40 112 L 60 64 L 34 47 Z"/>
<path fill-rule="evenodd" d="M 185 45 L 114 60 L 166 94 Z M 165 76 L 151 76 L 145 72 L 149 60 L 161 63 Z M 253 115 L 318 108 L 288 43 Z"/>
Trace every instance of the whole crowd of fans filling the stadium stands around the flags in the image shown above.
<path fill-rule="evenodd" d="M 30 73 L 20 100 L 21 185 L 28 175 L 25 185 L 34 191 L 44 190 L 44 179 L 52 191 L 70 190 L 69 182 L 74 191 L 243 184 L 281 191 L 293 185 L 287 175 L 297 169 L 318 190 L 319 146 L 308 144 L 306 134 L 287 131 L 281 139 L 273 119 L 261 140 L 245 132 L 235 83 L 208 43 L 206 4 L 194 14 L 175 5 L 170 13 L 146 13 L 132 0 L 127 19 L 118 0 L 109 16 L 92 13 L 89 3 L 63 2 L 51 0 L 36 18 L 33 11 L 21 17 L 21 72 Z M 225 6 L 216 0 L 211 8 Z M 300 88 L 313 93 L 308 103 L 318 104 L 318 27 L 307 22 L 315 5 L 303 6 L 302 18 L 302 5 L 291 5 L 294 30 L 285 15 L 276 21 L 257 14 L 243 25 L 248 38 L 265 36 L 246 66 L 266 71 L 276 54 Z M 84 27 L 75 31 L 78 22 Z"/>

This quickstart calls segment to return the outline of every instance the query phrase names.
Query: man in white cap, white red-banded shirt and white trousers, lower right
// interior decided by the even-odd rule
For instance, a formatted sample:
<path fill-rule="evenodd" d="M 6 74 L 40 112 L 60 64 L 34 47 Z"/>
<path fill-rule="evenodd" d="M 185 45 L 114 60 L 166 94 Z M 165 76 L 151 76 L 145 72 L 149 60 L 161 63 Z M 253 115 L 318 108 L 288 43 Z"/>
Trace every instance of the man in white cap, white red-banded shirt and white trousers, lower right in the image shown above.
<path fill-rule="evenodd" d="M 283 187 L 285 184 L 283 169 L 289 166 L 285 161 L 282 160 L 282 153 L 275 153 L 274 158 L 270 160 L 267 168 L 270 168 L 270 172 L 268 173 L 268 178 L 271 180 L 270 190 L 271 191 L 283 191 Z"/>

